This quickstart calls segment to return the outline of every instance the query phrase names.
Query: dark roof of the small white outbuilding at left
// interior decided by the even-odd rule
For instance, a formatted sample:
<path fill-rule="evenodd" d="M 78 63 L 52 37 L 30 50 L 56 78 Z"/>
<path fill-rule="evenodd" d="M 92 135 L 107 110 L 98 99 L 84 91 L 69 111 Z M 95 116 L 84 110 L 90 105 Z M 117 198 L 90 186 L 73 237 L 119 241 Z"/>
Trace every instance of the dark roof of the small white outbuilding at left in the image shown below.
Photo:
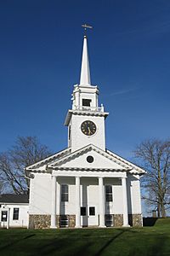
<path fill-rule="evenodd" d="M 28 203 L 28 195 L 3 194 L 0 195 L 0 203 Z"/>

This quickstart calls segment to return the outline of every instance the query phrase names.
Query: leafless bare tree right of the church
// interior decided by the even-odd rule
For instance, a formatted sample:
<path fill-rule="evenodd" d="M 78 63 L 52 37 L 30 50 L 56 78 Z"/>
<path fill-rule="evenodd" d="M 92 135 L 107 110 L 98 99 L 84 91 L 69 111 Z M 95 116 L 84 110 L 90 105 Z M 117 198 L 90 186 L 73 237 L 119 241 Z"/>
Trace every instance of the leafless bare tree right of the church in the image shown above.
<path fill-rule="evenodd" d="M 166 217 L 170 206 L 170 141 L 149 139 L 134 153 L 147 170 L 142 180 L 143 198 L 157 208 L 158 217 Z"/>

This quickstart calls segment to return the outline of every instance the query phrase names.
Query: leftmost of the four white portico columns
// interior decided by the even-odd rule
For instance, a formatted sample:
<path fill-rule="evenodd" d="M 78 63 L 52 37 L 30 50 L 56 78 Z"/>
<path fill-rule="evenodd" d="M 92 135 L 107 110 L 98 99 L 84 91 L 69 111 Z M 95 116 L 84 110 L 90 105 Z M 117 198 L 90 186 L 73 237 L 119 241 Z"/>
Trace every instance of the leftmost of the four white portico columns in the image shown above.
<path fill-rule="evenodd" d="M 52 176 L 51 229 L 56 229 L 56 177 Z"/>

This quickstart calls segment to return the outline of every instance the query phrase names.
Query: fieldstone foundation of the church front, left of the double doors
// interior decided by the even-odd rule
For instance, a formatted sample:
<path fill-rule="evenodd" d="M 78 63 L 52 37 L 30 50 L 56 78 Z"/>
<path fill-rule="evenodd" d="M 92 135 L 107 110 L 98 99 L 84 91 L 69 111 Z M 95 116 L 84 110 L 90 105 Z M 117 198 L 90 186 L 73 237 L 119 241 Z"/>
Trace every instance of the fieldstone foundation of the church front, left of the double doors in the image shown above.
<path fill-rule="evenodd" d="M 69 219 L 69 228 L 74 228 L 76 225 L 76 215 L 66 215 Z M 60 215 L 56 215 L 56 226 L 59 228 Z M 50 229 L 51 215 L 45 214 L 30 214 L 29 229 Z"/>

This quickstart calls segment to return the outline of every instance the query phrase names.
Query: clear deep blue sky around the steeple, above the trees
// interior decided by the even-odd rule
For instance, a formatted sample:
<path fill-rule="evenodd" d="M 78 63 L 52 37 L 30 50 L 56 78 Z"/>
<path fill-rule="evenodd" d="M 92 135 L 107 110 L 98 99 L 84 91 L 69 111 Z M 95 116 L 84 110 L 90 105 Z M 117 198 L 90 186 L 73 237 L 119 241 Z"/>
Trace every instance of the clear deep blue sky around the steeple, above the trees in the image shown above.
<path fill-rule="evenodd" d="M 17 136 L 37 136 L 54 152 L 79 83 L 88 32 L 92 84 L 110 112 L 106 146 L 127 159 L 144 139 L 170 131 L 170 2 L 0 2 L 0 151 Z"/>

